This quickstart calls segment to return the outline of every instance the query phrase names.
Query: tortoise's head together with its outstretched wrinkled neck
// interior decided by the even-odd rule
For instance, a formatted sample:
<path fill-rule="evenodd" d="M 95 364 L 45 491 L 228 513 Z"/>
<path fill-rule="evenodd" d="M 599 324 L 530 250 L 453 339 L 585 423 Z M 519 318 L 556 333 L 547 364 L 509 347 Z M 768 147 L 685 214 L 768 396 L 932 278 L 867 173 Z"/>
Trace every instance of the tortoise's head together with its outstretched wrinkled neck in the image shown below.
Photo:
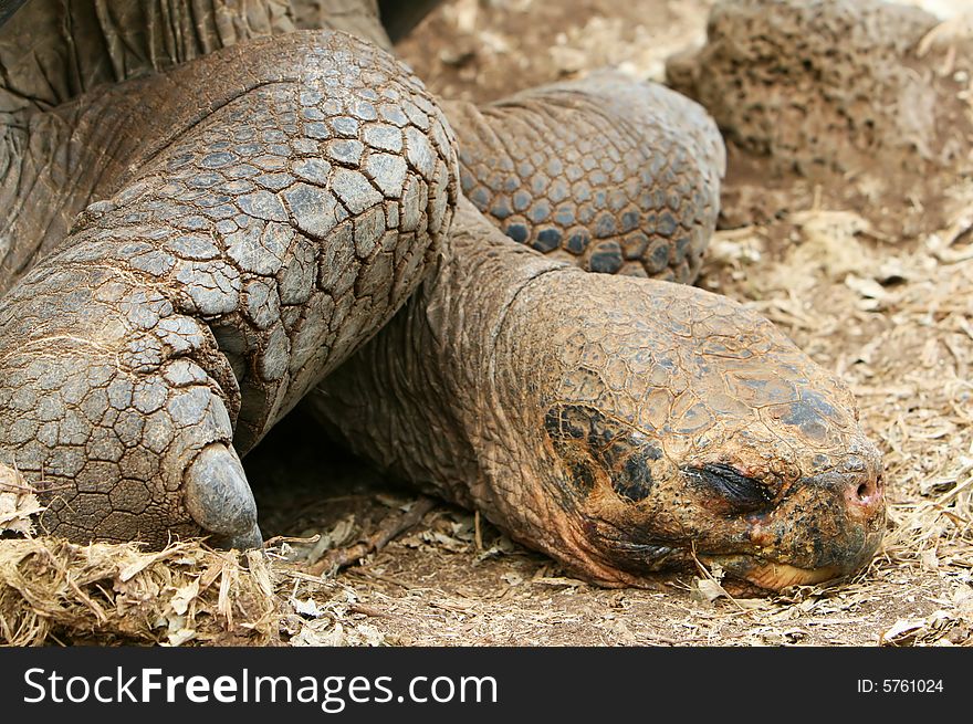
<path fill-rule="evenodd" d="M 451 248 L 308 398 L 356 453 L 607 586 L 693 554 L 771 589 L 871 558 L 880 455 L 847 388 L 770 322 L 546 260 L 465 200 Z"/>

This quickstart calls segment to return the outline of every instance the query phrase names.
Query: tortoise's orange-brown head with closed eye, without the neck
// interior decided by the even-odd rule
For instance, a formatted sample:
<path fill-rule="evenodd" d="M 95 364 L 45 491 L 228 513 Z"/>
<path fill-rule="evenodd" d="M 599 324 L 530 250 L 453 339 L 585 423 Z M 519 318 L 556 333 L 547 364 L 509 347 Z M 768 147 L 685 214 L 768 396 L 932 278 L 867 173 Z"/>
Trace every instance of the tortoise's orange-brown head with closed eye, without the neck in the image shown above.
<path fill-rule="evenodd" d="M 693 557 L 764 589 L 868 563 L 885 521 L 881 459 L 834 375 L 702 290 L 540 282 L 519 303 L 547 333 L 514 344 L 544 369 L 535 419 L 522 418 L 542 461 L 532 514 L 562 518 L 543 547 L 608 585 Z"/>

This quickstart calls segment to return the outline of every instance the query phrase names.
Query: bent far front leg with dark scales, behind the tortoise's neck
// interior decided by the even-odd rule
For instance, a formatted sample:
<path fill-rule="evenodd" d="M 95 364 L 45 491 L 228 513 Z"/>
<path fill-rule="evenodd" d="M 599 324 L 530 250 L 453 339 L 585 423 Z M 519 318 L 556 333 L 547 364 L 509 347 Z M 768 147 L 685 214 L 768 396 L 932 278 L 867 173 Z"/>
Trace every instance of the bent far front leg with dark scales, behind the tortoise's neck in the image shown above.
<path fill-rule="evenodd" d="M 600 72 L 444 107 L 463 193 L 508 237 L 586 271 L 695 279 L 725 168 L 701 106 Z"/>

